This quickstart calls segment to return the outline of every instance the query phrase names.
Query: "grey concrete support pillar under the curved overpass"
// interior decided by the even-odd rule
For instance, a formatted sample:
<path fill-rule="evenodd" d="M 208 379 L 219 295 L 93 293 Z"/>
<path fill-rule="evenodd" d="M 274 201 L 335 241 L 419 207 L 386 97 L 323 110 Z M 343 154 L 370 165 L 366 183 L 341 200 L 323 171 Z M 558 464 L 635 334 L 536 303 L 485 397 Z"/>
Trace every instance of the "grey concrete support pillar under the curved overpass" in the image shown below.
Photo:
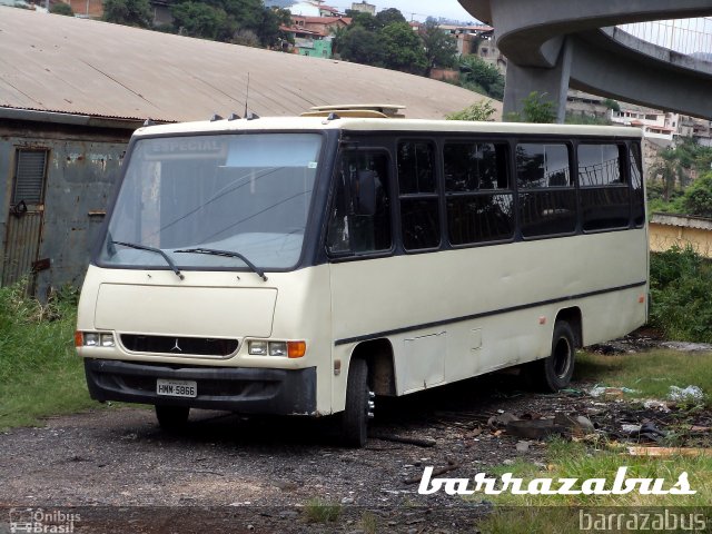
<path fill-rule="evenodd" d="M 520 67 L 510 61 L 504 86 L 504 120 L 507 113 L 522 113 L 522 101 L 530 93 L 537 92 L 543 100 L 554 105 L 556 122 L 564 121 L 571 76 L 571 41 L 564 39 L 556 62 L 551 68 Z"/>

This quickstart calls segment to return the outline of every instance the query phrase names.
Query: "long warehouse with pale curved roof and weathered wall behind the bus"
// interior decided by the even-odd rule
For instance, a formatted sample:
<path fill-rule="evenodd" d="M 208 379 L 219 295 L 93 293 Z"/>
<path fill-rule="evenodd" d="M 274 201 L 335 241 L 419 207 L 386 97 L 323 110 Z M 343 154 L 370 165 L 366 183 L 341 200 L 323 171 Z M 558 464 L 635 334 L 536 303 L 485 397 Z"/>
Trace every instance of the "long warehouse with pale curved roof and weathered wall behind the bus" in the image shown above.
<path fill-rule="evenodd" d="M 379 101 L 435 119 L 478 98 L 392 70 L 9 7 L 0 34 L 0 283 L 29 276 L 39 296 L 81 283 L 147 118 Z"/>

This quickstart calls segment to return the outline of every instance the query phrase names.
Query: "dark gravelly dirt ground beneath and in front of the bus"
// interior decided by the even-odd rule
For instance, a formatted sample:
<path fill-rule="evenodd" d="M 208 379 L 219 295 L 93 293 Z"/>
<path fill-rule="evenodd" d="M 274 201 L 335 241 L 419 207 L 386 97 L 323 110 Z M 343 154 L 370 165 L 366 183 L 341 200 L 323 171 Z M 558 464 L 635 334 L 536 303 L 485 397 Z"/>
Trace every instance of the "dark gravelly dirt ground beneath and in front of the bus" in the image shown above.
<path fill-rule="evenodd" d="M 490 503 L 419 495 L 417 485 L 425 466 L 469 478 L 518 457 L 545 467 L 544 442 L 513 435 L 493 417 L 582 415 L 595 432 L 633 443 L 656 438 L 646 428 L 664 433 L 680 421 L 674 406 L 632 407 L 615 392 L 589 395 L 591 386 L 544 395 L 523 389 L 521 377 L 494 375 L 377 399 L 363 449 L 342 448 L 330 419 L 195 412 L 187 429 L 171 435 L 140 407 L 50 418 L 44 427 L 0 434 L 0 534 L 10 526 L 26 532 L 17 521 L 38 511 L 55 527 L 44 532 L 477 532 Z M 693 419 L 712 426 L 710 412 Z M 336 521 L 309 523 L 315 498 L 340 505 Z"/>

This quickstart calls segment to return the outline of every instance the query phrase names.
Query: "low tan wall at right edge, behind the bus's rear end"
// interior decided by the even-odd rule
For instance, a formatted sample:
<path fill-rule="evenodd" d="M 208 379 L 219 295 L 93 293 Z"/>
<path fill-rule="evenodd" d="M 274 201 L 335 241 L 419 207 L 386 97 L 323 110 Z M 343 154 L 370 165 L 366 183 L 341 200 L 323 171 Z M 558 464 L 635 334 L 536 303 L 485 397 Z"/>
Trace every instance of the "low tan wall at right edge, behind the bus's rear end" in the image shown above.
<path fill-rule="evenodd" d="M 661 253 L 673 246 L 692 247 L 712 258 L 712 219 L 688 215 L 653 214 L 649 222 L 650 249 Z"/>

